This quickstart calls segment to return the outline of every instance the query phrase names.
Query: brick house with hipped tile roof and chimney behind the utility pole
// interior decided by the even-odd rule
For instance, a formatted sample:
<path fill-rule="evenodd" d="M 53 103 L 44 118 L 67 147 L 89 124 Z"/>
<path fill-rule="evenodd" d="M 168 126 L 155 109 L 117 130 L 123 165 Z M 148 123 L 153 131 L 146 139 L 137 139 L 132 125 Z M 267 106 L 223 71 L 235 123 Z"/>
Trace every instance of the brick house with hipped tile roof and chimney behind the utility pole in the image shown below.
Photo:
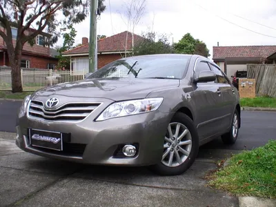
<path fill-rule="evenodd" d="M 126 41 L 128 35 L 128 40 Z M 134 43 L 142 37 L 134 34 Z M 97 68 L 102 68 L 106 64 L 121 59 L 132 52 L 132 33 L 125 31 L 119 34 L 99 39 L 97 43 L 98 59 Z M 81 46 L 63 52 L 64 57 L 70 57 L 70 70 L 86 70 L 88 72 L 89 42 L 87 37 L 82 38 Z"/>

